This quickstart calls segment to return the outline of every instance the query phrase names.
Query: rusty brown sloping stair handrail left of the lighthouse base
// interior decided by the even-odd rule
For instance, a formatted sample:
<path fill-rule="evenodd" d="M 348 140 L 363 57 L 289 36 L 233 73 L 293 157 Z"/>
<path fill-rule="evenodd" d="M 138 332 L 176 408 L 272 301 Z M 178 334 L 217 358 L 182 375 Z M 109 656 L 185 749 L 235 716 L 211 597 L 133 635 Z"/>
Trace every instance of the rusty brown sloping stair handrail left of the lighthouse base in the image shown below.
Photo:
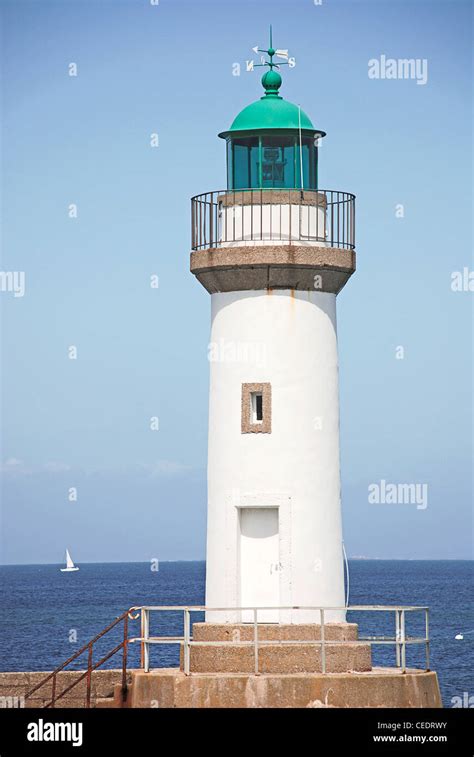
<path fill-rule="evenodd" d="M 51 699 L 49 702 L 47 702 L 45 705 L 43 705 L 44 708 L 54 708 L 56 705 L 56 702 L 58 699 L 61 699 L 65 694 L 67 694 L 71 689 L 73 689 L 77 684 L 79 684 L 84 678 L 86 678 L 86 707 L 90 707 L 91 703 L 91 687 L 92 687 L 92 672 L 94 670 L 97 670 L 101 665 L 104 664 L 104 662 L 107 662 L 107 660 L 110 660 L 111 657 L 113 657 L 114 654 L 116 654 L 120 649 L 123 650 L 122 652 L 122 698 L 123 701 L 125 701 L 127 697 L 127 647 L 130 642 L 130 639 L 128 638 L 128 621 L 130 620 L 136 620 L 139 616 L 137 615 L 135 618 L 133 617 L 132 613 L 139 611 L 140 607 L 131 607 L 126 612 L 122 613 L 122 615 L 119 615 L 118 618 L 115 618 L 112 623 L 110 623 L 106 628 L 104 628 L 100 633 L 98 633 L 96 636 L 94 636 L 91 641 L 87 642 L 87 644 L 84 644 L 81 649 L 79 649 L 77 652 L 75 652 L 71 657 L 69 657 L 65 662 L 62 663 L 62 665 L 58 665 L 58 667 L 53 670 L 51 673 L 48 673 L 45 678 L 43 678 L 36 686 L 33 686 L 32 689 L 29 689 L 29 691 L 25 694 L 25 701 L 32 696 L 32 694 L 35 693 L 38 689 L 42 688 L 45 683 L 47 683 L 49 680 L 52 679 L 51 683 Z M 117 644 L 114 649 L 112 649 L 110 652 L 108 652 L 104 657 L 102 657 L 98 662 L 93 663 L 93 648 L 94 644 L 101 639 L 105 634 L 107 634 L 109 631 L 112 630 L 112 628 L 115 628 L 118 623 L 123 621 L 123 639 L 120 642 L 120 644 Z M 84 671 L 82 675 L 80 675 L 78 678 L 76 678 L 69 686 L 67 686 L 65 689 L 63 689 L 59 694 L 56 693 L 56 684 L 57 684 L 57 675 L 61 671 L 64 670 L 71 662 L 74 660 L 77 660 L 78 657 L 80 657 L 84 652 L 87 650 L 87 670 Z"/>

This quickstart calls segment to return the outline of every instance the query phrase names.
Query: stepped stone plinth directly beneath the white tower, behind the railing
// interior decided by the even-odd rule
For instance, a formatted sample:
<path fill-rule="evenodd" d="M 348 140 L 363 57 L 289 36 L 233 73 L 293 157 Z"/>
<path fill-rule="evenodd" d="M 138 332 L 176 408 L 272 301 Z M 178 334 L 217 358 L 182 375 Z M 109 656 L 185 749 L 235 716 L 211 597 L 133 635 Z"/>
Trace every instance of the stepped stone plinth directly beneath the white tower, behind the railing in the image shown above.
<path fill-rule="evenodd" d="M 194 623 L 193 646 L 190 650 L 192 673 L 255 673 L 255 650 L 252 642 L 254 627 L 251 624 Z M 311 644 L 321 638 L 321 627 L 314 623 L 278 624 L 259 623 L 259 673 L 316 673 L 322 671 L 321 646 Z M 371 670 L 369 643 L 357 641 L 357 624 L 328 623 L 325 638 L 337 641 L 326 644 L 326 672 Z M 291 644 L 291 641 L 306 642 Z M 202 644 L 196 642 L 202 642 Z M 211 642 L 211 644 L 209 644 Z M 222 642 L 222 643 L 219 643 Z M 247 642 L 247 644 L 245 644 Z M 343 642 L 343 643 L 341 643 Z M 183 670 L 181 647 L 181 670 Z"/>

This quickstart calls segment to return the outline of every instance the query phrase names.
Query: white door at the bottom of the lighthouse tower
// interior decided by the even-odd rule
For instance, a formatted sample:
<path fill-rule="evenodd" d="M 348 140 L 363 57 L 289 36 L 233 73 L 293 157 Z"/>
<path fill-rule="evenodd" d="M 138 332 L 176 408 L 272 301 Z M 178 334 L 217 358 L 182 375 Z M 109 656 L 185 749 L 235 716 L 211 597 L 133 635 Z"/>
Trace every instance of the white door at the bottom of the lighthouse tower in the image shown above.
<path fill-rule="evenodd" d="M 277 507 L 240 509 L 240 606 L 278 607 L 280 604 L 280 552 Z M 278 623 L 278 610 L 260 611 L 258 621 Z M 242 612 L 244 623 L 253 612 Z"/>

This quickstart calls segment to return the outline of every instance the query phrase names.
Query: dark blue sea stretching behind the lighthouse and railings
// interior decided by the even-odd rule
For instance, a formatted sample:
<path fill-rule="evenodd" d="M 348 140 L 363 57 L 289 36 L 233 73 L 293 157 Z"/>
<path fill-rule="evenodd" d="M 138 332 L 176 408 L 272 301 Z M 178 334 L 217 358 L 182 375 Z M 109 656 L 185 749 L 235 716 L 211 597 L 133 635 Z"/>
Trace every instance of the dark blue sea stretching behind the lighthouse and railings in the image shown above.
<path fill-rule="evenodd" d="M 53 670 L 86 645 L 125 610 L 140 606 L 202 605 L 204 562 L 88 563 L 74 573 L 59 565 L 0 566 L 0 670 Z M 436 670 L 445 707 L 474 706 L 474 563 L 463 560 L 349 560 L 354 605 L 417 605 L 430 610 L 430 667 Z M 132 613 L 133 615 L 133 613 Z M 193 621 L 203 620 L 196 612 Z M 351 611 L 361 636 L 393 636 L 393 612 Z M 424 614 L 407 613 L 406 632 L 424 635 Z M 153 612 L 150 634 L 182 635 L 181 611 Z M 456 639 L 461 634 L 462 639 Z M 129 636 L 140 636 L 139 620 L 129 621 Z M 93 662 L 120 643 L 122 623 L 95 645 Z M 140 661 L 139 643 L 129 645 L 129 667 Z M 152 667 L 178 664 L 178 646 L 153 645 Z M 393 665 L 392 645 L 373 647 L 373 663 Z M 425 666 L 424 645 L 407 648 L 409 666 Z M 87 652 L 70 669 L 84 669 Z M 120 652 L 104 667 L 121 666 Z"/>

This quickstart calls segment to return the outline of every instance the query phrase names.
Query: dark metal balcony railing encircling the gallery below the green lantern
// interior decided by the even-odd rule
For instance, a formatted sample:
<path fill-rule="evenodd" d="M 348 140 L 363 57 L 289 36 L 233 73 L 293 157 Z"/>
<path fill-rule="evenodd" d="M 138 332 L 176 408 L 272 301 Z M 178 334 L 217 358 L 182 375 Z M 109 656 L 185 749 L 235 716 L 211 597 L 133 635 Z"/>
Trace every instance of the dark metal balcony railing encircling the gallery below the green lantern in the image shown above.
<path fill-rule="evenodd" d="M 355 247 L 355 196 L 332 189 L 223 189 L 191 200 L 192 249 Z"/>

